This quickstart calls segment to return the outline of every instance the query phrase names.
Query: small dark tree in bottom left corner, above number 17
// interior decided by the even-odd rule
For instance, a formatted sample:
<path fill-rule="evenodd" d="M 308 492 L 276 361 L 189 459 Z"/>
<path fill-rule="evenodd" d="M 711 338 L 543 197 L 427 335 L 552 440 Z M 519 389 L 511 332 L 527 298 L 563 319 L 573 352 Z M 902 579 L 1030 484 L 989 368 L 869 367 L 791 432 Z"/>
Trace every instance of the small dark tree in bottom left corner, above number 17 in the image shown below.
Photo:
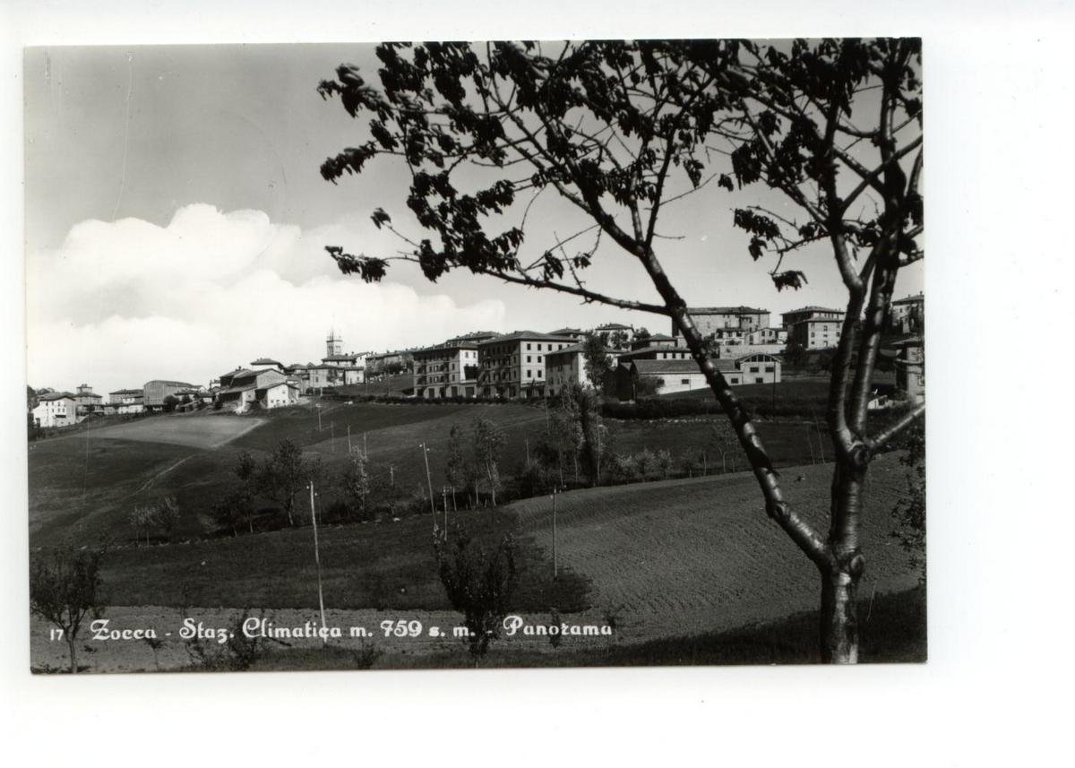
<path fill-rule="evenodd" d="M 102 612 L 101 557 L 95 550 L 58 549 L 30 561 L 30 611 L 62 634 L 72 674 L 78 671 L 75 648 L 82 623 Z"/>

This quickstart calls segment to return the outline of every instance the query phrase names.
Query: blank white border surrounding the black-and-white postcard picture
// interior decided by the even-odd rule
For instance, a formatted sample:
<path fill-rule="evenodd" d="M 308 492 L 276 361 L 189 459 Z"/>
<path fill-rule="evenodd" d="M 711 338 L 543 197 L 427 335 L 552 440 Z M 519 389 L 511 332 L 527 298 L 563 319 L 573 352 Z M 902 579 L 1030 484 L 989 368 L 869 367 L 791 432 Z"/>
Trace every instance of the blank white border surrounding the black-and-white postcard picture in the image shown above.
<path fill-rule="evenodd" d="M 0 739 L 45 763 L 1052 762 L 1070 708 L 1064 2 L 8 2 Z M 673 12 L 673 8 L 676 9 Z M 366 674 L 27 673 L 20 46 L 918 34 L 926 40 L 930 663 Z M 72 169 L 76 173 L 77 169 Z M 15 408 L 15 406 L 19 408 Z M 1033 441 L 1033 442 L 1029 442 Z M 1057 752 L 1052 752 L 1057 750 Z M 1063 751 L 1061 751 L 1063 750 Z M 40 762 L 40 759 L 39 759 Z"/>

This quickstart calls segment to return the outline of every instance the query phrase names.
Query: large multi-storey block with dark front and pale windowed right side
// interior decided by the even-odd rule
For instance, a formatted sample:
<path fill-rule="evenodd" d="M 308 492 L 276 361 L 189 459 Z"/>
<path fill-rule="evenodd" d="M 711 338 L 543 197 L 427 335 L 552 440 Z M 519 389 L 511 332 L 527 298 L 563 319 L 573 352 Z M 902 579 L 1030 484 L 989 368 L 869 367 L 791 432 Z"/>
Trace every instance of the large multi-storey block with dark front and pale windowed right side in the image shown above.
<path fill-rule="evenodd" d="M 544 397 L 546 355 L 574 343 L 570 336 L 520 330 L 478 344 L 478 392 L 483 397 Z"/>

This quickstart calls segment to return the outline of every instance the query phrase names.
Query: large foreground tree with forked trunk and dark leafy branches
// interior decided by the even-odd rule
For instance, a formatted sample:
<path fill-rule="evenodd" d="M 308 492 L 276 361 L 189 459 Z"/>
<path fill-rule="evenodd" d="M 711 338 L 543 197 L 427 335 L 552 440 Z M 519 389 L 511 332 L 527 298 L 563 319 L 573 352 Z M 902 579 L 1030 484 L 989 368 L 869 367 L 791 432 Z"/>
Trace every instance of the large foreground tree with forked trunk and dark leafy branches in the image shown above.
<path fill-rule="evenodd" d="M 418 264 L 430 280 L 462 268 L 670 316 L 735 429 L 766 513 L 818 568 L 822 659 L 856 662 L 866 472 L 876 447 L 924 410 L 880 433 L 869 429 L 895 278 L 923 256 L 920 41 L 604 41 L 550 51 L 384 44 L 377 55 L 379 88 L 347 65 L 318 88 L 352 116 L 369 116 L 357 146 L 328 158 L 321 174 L 335 182 L 378 155 L 401 158 L 411 179 L 406 205 L 430 234 L 407 237 L 378 208 L 376 226 L 410 250 L 371 257 L 328 246 L 340 269 L 377 281 L 390 259 Z M 733 218 L 749 236 L 751 258 L 772 255 L 777 289 L 806 280 L 784 268 L 786 258 L 823 245 L 848 291 L 828 411 L 836 454 L 828 536 L 785 499 L 749 414 L 706 355 L 658 253 L 661 214 L 714 180 L 732 194 L 762 185 L 780 198 L 768 208 L 748 202 Z M 520 253 L 527 205 L 516 198 L 546 190 L 589 225 Z M 516 214 L 517 225 L 492 229 Z M 567 252 L 590 232 L 592 247 Z M 658 303 L 602 293 L 580 278 L 601 237 L 649 279 Z"/>

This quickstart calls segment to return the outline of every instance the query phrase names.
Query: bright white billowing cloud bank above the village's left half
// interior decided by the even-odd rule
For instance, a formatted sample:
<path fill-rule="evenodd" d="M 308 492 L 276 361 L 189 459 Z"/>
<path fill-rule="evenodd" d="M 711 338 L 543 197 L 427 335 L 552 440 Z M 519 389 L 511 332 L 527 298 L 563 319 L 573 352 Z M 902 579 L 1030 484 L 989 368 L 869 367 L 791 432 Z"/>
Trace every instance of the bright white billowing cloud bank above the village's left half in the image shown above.
<path fill-rule="evenodd" d="M 330 327 L 354 352 L 501 327 L 499 300 L 460 307 L 340 274 L 324 246 L 359 238 L 205 204 L 180 209 L 167 227 L 83 222 L 57 251 L 28 259 L 29 383 L 88 382 L 98 394 L 150 379 L 207 384 L 261 356 L 320 359 Z"/>

